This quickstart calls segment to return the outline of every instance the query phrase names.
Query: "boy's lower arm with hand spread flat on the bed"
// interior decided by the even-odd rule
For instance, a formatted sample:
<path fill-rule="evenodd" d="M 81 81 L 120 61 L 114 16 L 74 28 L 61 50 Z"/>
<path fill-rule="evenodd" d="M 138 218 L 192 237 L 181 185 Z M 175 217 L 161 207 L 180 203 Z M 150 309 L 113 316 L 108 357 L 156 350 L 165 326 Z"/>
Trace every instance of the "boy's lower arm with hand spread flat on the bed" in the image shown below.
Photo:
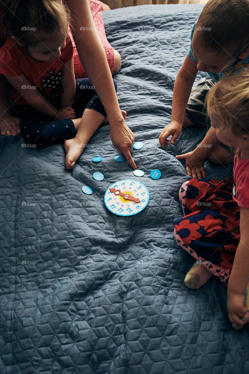
<path fill-rule="evenodd" d="M 195 150 L 179 154 L 175 156 L 178 160 L 186 160 L 185 161 L 185 169 L 187 174 L 193 178 L 205 178 L 206 173 L 204 169 L 204 161 L 207 156 L 212 152 L 212 150 L 217 147 L 219 144 L 219 140 L 216 137 L 215 128 L 212 126 L 207 131 L 207 134 L 203 141 L 196 147 Z"/>

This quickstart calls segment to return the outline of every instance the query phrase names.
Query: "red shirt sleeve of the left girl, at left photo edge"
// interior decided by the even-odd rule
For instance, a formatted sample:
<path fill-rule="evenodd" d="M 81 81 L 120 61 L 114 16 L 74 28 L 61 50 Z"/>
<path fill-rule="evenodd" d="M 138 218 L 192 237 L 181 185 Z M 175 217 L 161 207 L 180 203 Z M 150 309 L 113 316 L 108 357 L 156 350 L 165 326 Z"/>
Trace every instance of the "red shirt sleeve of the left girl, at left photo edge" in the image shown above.
<path fill-rule="evenodd" d="M 22 75 L 21 60 L 18 46 L 12 39 L 7 39 L 0 48 L 0 73 L 9 76 Z"/>

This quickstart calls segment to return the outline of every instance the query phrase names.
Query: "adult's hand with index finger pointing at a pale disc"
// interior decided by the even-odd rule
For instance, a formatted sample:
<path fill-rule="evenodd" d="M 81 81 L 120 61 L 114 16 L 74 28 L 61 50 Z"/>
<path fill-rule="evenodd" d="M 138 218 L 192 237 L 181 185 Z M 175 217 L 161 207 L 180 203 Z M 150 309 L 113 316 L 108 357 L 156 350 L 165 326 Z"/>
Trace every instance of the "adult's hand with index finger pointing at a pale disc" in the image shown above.
<path fill-rule="evenodd" d="M 135 136 L 124 120 L 117 121 L 115 125 L 110 126 L 110 138 L 113 142 L 113 147 L 123 154 L 130 166 L 136 170 L 137 167 L 131 155 Z"/>

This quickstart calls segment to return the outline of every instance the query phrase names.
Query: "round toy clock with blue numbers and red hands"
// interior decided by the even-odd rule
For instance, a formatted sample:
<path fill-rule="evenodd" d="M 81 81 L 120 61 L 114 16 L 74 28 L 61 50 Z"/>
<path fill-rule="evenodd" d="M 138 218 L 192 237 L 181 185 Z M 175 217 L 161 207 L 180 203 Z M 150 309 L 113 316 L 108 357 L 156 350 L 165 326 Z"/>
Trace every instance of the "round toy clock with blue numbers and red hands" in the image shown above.
<path fill-rule="evenodd" d="M 114 191 L 111 192 L 110 188 Z M 135 202 L 135 199 L 139 199 L 140 202 Z M 148 188 L 133 179 L 122 179 L 113 183 L 107 188 L 104 196 L 104 203 L 107 209 L 114 214 L 123 216 L 141 212 L 148 205 L 149 200 L 150 193 Z"/>

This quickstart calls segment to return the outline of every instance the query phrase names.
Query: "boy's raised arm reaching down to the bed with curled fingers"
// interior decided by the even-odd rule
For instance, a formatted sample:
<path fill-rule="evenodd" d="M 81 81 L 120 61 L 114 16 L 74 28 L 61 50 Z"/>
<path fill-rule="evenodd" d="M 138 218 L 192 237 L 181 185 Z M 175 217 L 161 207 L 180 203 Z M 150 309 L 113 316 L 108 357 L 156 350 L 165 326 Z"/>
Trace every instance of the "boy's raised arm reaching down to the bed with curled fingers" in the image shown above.
<path fill-rule="evenodd" d="M 190 92 L 197 76 L 197 62 L 192 61 L 188 55 L 178 71 L 176 76 L 174 90 L 173 90 L 173 102 L 172 102 L 172 115 L 171 122 L 165 126 L 159 136 L 159 142 L 162 147 L 166 147 L 169 140 L 167 138 L 172 135 L 171 144 L 174 144 L 178 136 L 182 131 L 182 123 Z"/>

